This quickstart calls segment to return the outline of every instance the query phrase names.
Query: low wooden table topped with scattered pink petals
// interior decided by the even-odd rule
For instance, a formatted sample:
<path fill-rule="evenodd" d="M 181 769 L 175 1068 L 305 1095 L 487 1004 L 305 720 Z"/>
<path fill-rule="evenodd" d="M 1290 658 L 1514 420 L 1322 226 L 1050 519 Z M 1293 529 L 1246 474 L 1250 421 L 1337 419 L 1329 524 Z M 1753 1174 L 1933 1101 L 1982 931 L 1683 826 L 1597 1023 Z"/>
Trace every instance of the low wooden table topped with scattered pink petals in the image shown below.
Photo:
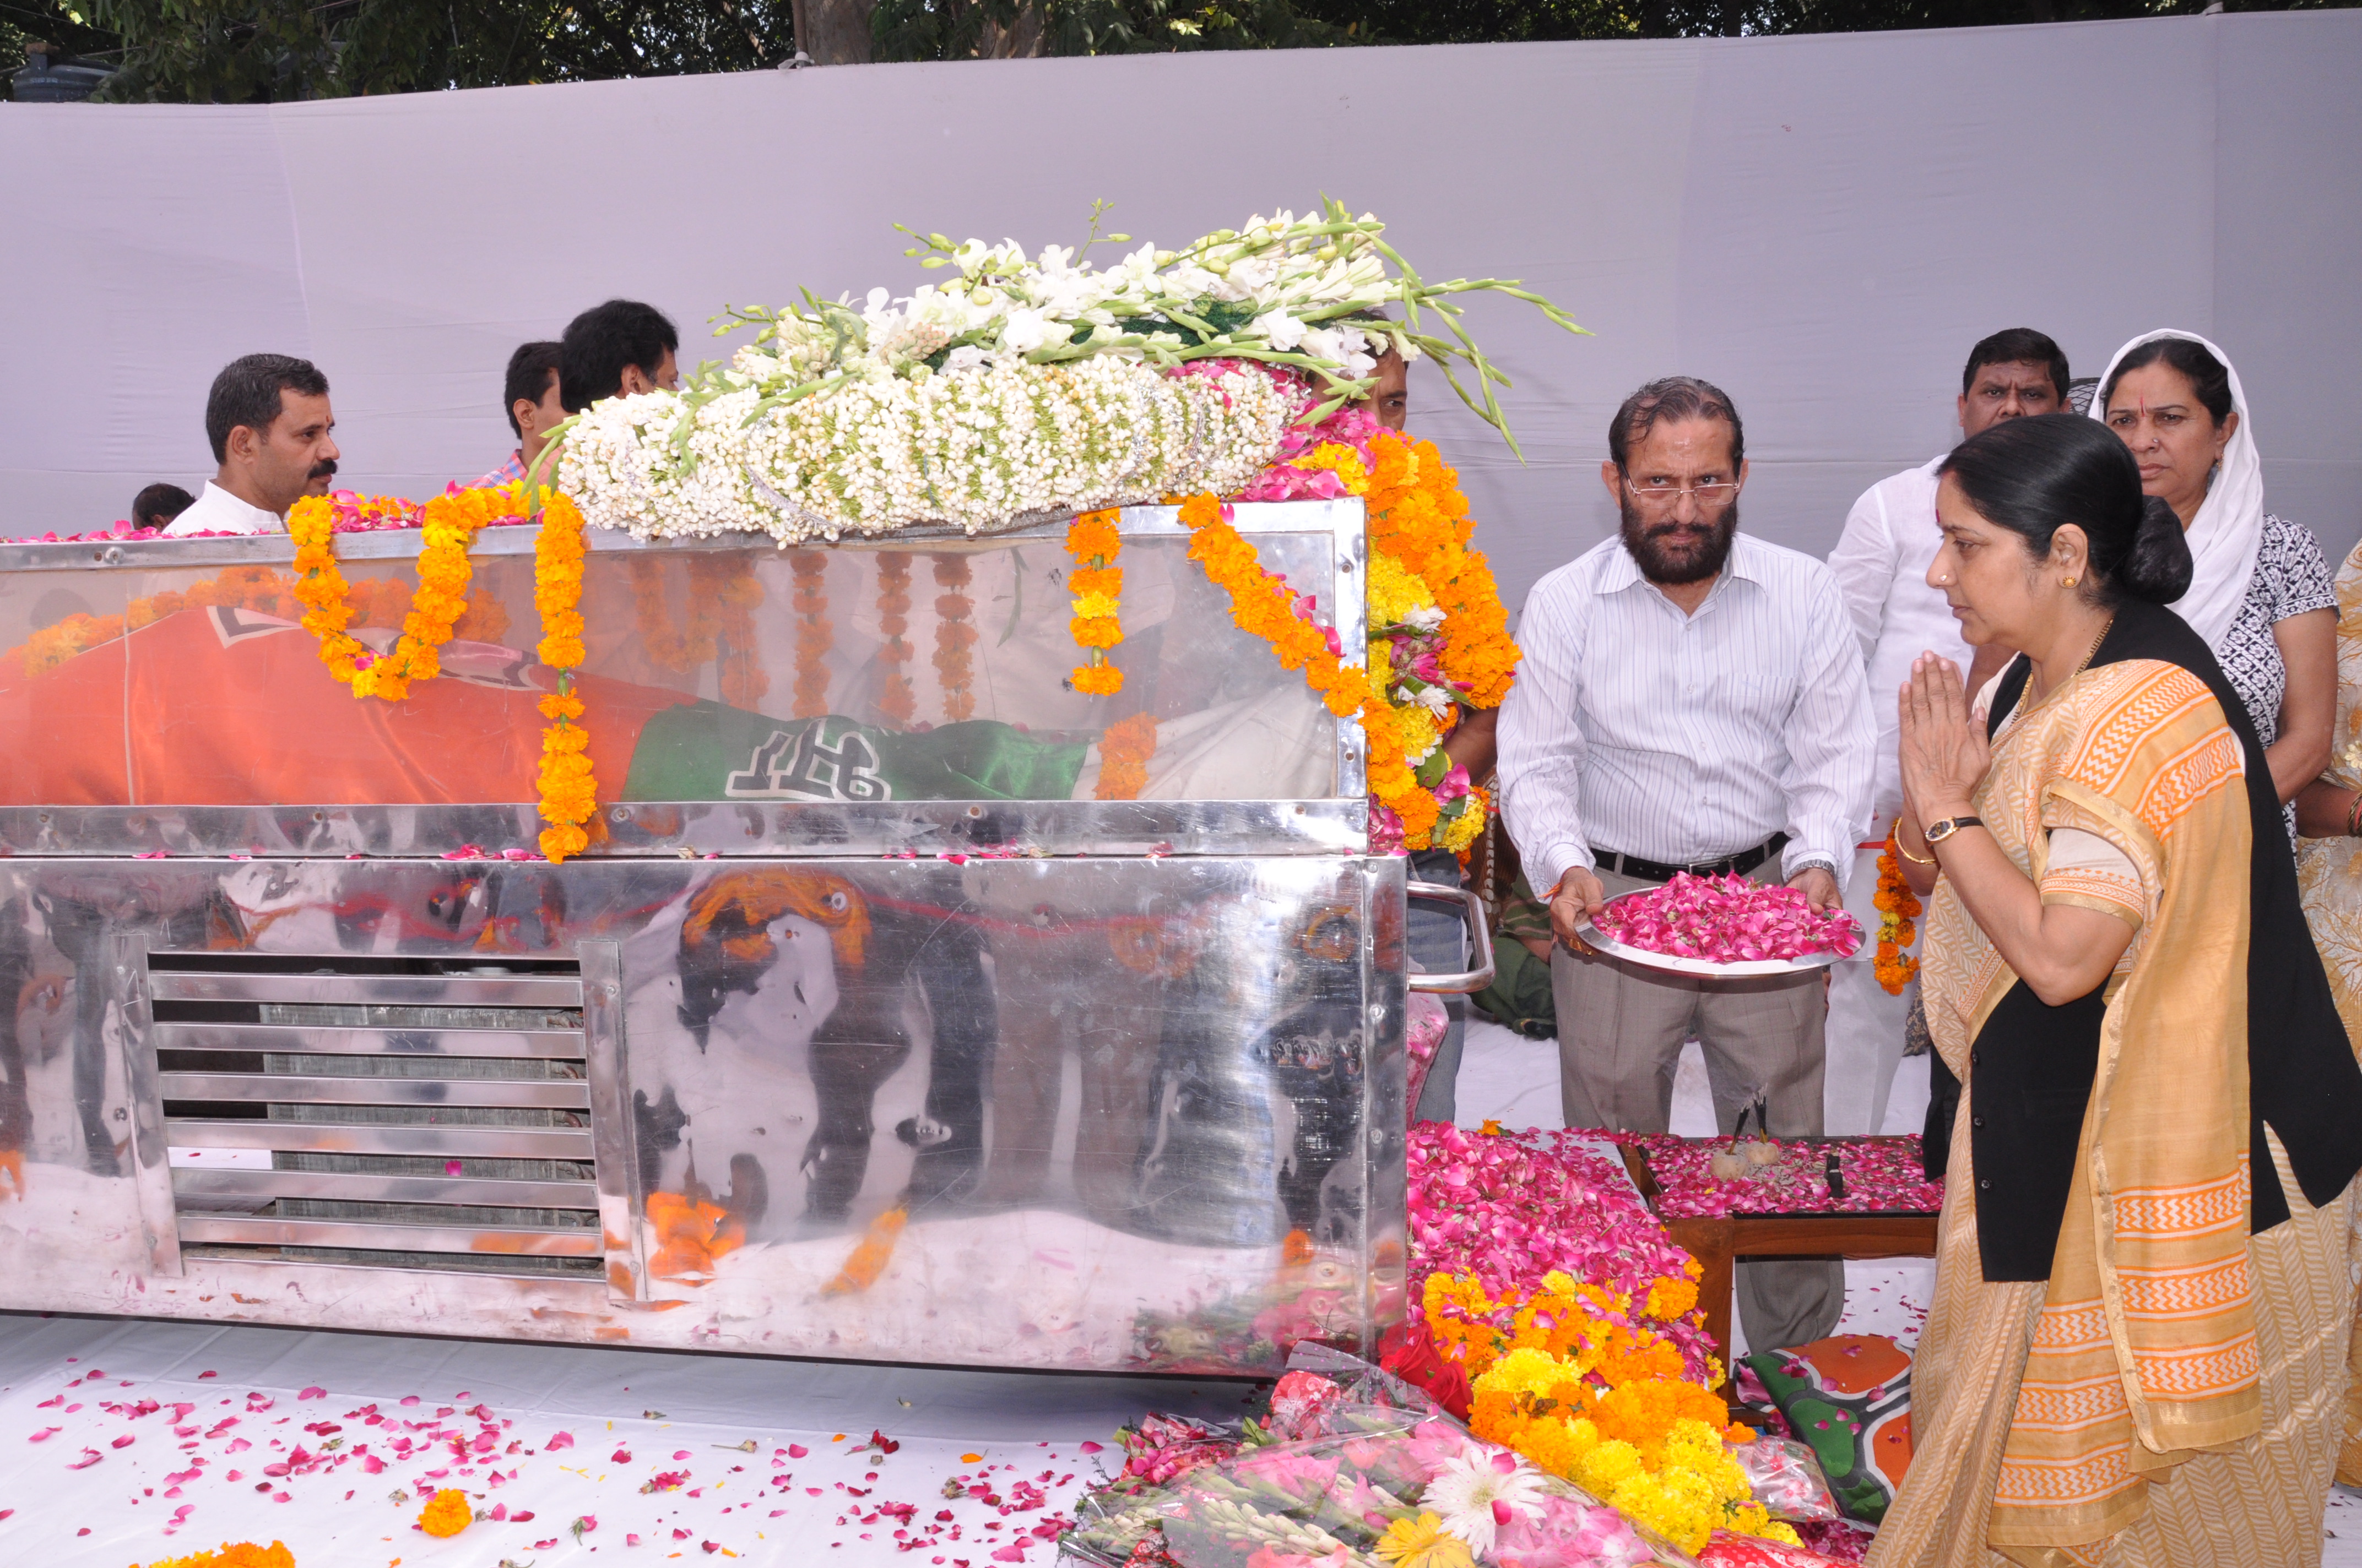
<path fill-rule="evenodd" d="M 1705 1270 L 1698 1304 L 1724 1367 L 1731 1360 L 1736 1259 L 1934 1256 L 1944 1183 L 1923 1178 L 1916 1136 L 1774 1141 L 1620 1133 L 1618 1143 L 1625 1169 L 1665 1233 Z M 1729 1377 L 1715 1393 L 1731 1398 Z"/>

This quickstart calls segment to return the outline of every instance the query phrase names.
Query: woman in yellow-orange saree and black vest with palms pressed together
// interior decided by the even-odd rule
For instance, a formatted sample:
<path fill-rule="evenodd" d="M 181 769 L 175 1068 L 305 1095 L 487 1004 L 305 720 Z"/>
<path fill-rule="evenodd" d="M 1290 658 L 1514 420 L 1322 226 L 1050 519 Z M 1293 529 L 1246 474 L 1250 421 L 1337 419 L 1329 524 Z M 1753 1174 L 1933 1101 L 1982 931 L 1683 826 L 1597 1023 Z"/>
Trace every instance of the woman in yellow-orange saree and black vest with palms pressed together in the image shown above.
<path fill-rule="evenodd" d="M 1913 1462 L 1878 1568 L 2317 1563 L 2362 1067 L 2190 545 L 2093 420 L 1946 460 L 1927 571 L 2024 649 L 1901 690 L 1899 848 L 1960 1079 Z"/>

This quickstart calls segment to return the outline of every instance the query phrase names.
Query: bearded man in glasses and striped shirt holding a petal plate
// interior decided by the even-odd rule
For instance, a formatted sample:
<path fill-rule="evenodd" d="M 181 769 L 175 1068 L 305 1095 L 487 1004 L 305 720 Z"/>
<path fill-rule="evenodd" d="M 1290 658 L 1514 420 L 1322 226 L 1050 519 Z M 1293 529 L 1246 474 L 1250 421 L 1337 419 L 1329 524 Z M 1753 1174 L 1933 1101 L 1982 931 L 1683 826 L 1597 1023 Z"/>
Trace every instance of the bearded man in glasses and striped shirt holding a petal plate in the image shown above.
<path fill-rule="evenodd" d="M 1552 888 L 1559 1098 L 1568 1126 L 1660 1133 L 1682 1041 L 1705 1046 L 1715 1117 L 1767 1105 L 1821 1131 L 1819 973 L 1696 980 L 1578 947 L 1618 893 L 1675 871 L 1783 878 L 1835 909 L 1871 817 L 1871 690 L 1831 569 L 1738 531 L 1746 432 L 1722 390 L 1653 380 L 1609 425 L 1618 538 L 1526 600 L 1526 661 L 1500 711 L 1502 817 Z M 1757 1351 L 1828 1334 L 1835 1261 L 1741 1261 Z"/>

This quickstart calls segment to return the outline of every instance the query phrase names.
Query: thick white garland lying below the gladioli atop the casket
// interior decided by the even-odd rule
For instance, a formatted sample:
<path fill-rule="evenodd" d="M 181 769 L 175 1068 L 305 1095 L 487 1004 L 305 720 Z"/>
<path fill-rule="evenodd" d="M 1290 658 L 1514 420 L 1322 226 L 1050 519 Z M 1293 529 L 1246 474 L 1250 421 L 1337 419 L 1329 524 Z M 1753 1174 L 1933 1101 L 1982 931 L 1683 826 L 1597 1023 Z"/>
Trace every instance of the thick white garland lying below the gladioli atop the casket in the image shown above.
<path fill-rule="evenodd" d="M 1113 354 L 864 375 L 768 409 L 749 378 L 702 399 L 595 404 L 567 432 L 560 484 L 593 524 L 638 538 L 761 531 L 794 543 L 916 524 L 987 534 L 1233 494 L 1273 460 L 1299 401 L 1259 368 L 1167 375 Z"/>

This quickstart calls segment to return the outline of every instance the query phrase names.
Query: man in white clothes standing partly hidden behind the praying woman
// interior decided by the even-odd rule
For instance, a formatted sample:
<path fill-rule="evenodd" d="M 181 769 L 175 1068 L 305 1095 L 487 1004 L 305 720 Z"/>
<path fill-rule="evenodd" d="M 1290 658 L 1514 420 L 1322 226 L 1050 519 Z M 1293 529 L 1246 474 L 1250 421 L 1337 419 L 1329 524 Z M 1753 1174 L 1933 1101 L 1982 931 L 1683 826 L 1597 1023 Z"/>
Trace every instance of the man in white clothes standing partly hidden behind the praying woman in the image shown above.
<path fill-rule="evenodd" d="M 2060 413 L 2067 394 L 2067 354 L 2057 342 L 2024 326 L 1994 333 L 1968 352 L 1968 368 L 1960 371 L 1960 439 L 2024 413 Z M 1871 711 L 1878 716 L 1875 810 L 1871 831 L 1854 850 L 1854 876 L 1845 888 L 1845 907 L 1871 940 L 1828 975 L 1828 1131 L 1833 1133 L 1918 1131 L 1927 1112 L 1918 1077 L 1899 1098 L 1894 1096 L 1904 1020 L 1918 994 L 1916 985 L 1890 997 L 1878 982 L 1875 966 L 1878 848 L 1904 801 L 1894 763 L 1894 692 L 1911 678 L 1911 661 L 1930 649 L 1968 671 L 1970 692 L 1982 690 L 2010 659 L 2005 647 L 1970 649 L 1944 593 L 1927 586 L 1927 562 L 1944 543 L 1934 522 L 1934 470 L 1942 463 L 1937 456 L 1861 491 L 1861 501 L 1845 517 L 1845 536 L 1828 555 L 1828 569 L 1838 574 L 1845 609 L 1861 640 L 1871 675 Z M 1916 947 L 1913 940 L 1904 952 Z"/>

